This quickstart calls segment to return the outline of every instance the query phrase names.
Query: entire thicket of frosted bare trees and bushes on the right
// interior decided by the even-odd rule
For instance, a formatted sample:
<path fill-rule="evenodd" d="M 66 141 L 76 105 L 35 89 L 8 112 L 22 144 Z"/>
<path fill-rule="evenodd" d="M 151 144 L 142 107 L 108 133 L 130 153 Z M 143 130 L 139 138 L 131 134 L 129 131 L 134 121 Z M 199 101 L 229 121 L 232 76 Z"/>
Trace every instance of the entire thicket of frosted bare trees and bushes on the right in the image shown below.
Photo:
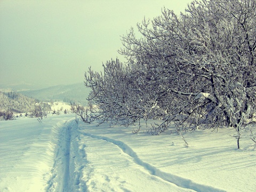
<path fill-rule="evenodd" d="M 122 37 L 127 59 L 89 70 L 89 101 L 98 118 L 124 124 L 162 118 L 157 133 L 234 127 L 237 143 L 255 114 L 256 1 L 202 0 L 186 13 L 163 9 L 154 20 Z"/>

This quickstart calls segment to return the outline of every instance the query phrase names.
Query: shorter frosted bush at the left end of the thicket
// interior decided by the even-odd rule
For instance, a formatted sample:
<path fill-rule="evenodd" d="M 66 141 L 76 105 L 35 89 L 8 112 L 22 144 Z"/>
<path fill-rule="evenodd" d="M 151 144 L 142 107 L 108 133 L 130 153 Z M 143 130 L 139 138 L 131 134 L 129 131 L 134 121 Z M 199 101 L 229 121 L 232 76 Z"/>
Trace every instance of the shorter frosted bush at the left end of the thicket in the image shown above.
<path fill-rule="evenodd" d="M 85 74 L 85 85 L 92 89 L 87 100 L 90 106 L 97 106 L 94 114 L 102 122 L 118 121 L 132 115 L 126 106 L 130 95 L 126 77 L 126 68 L 118 59 L 103 65 L 103 73 L 90 68 L 88 75 Z"/>

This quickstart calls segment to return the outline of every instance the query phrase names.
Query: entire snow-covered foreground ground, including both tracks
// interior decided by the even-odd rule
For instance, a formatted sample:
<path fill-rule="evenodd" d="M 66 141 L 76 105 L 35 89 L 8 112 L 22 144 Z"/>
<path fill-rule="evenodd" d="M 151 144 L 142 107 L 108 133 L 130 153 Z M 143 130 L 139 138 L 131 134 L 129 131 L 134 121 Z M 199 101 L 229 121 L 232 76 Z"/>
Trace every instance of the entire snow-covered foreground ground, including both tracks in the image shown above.
<path fill-rule="evenodd" d="M 255 191 L 256 153 L 227 129 L 159 136 L 76 124 L 74 114 L 0 122 L 0 191 Z M 146 130 L 146 129 L 145 129 Z"/>

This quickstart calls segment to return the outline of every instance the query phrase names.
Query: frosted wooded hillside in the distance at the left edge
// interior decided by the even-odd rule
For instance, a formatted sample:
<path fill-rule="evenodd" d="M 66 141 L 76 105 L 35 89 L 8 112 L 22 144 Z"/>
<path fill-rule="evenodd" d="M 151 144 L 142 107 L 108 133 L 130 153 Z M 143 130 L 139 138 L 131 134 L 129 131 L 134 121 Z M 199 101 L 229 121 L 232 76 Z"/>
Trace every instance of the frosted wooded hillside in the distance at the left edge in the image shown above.
<path fill-rule="evenodd" d="M 0 111 L 25 113 L 34 110 L 36 100 L 15 92 L 0 91 Z"/>

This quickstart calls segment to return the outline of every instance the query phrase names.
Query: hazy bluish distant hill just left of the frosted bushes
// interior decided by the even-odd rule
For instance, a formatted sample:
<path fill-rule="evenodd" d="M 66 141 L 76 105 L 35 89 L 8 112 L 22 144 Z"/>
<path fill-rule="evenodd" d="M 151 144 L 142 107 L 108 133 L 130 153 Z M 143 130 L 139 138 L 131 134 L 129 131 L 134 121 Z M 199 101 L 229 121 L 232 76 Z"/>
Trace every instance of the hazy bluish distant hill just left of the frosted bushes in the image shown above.
<path fill-rule="evenodd" d="M 40 101 L 65 101 L 87 103 L 90 89 L 83 83 L 72 85 L 56 85 L 40 90 L 19 91 L 19 93 L 38 99 Z"/>

